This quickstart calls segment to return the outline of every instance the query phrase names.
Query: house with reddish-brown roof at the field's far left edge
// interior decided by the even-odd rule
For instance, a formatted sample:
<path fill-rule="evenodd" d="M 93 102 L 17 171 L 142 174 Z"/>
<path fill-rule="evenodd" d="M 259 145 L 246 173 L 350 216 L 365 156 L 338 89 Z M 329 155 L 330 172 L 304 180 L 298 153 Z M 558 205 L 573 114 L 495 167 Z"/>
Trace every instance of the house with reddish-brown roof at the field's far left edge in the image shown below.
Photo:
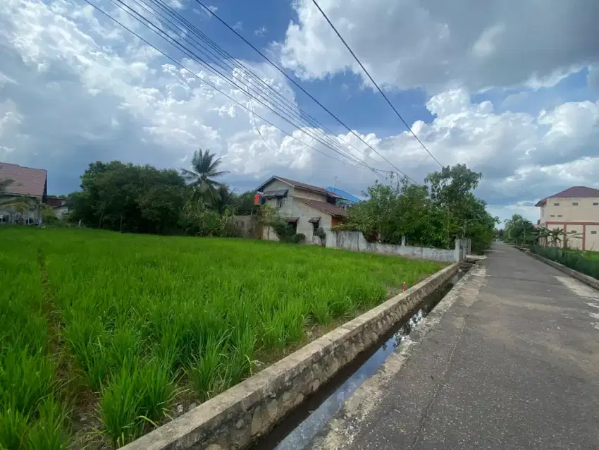
<path fill-rule="evenodd" d="M 0 181 L 6 180 L 11 183 L 0 194 L 0 222 L 34 224 L 47 200 L 47 171 L 0 162 Z"/>

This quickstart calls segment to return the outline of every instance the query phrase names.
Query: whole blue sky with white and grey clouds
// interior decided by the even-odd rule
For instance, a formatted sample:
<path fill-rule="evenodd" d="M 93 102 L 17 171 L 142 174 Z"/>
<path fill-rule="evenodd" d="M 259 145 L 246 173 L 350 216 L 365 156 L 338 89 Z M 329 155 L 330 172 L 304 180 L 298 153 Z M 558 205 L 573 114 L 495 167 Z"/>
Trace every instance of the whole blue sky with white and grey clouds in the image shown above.
<path fill-rule="evenodd" d="M 156 23 L 143 8 L 154 0 L 122 1 Z M 223 182 L 239 191 L 278 175 L 361 195 L 381 171 L 422 183 L 439 169 L 311 0 L 205 4 L 361 139 L 197 0 L 163 2 L 240 71 L 219 78 L 118 0 L 89 2 L 147 42 L 84 0 L 0 2 L 0 161 L 47 169 L 50 194 L 78 189 L 90 162 L 188 168 L 199 148 L 222 158 Z M 492 214 L 536 220 L 539 199 L 599 188 L 599 2 L 319 4 L 436 159 L 483 174 L 476 195 Z M 189 25 L 159 26 L 191 42 Z M 252 100 L 239 84 L 250 72 L 317 123 L 289 123 Z"/>

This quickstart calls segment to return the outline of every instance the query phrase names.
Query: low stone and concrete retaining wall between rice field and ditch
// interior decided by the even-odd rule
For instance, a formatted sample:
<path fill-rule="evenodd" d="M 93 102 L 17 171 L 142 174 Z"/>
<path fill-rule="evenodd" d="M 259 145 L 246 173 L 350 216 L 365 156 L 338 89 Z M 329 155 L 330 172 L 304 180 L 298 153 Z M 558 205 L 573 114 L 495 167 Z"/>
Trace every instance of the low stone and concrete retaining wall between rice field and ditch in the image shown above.
<path fill-rule="evenodd" d="M 445 267 L 123 449 L 247 448 L 457 270 L 458 264 Z"/>

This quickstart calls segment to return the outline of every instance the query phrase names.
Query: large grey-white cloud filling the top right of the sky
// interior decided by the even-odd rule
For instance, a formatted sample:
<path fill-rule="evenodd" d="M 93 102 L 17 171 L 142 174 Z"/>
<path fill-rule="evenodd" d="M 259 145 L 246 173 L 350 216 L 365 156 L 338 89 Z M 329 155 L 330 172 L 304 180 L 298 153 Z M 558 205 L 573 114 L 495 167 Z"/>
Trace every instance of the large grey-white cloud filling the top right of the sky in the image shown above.
<path fill-rule="evenodd" d="M 555 85 L 573 68 L 599 62 L 596 1 L 323 0 L 319 4 L 388 87 L 439 92 L 466 85 Z M 280 58 L 303 78 L 362 70 L 311 0 L 295 2 Z"/>

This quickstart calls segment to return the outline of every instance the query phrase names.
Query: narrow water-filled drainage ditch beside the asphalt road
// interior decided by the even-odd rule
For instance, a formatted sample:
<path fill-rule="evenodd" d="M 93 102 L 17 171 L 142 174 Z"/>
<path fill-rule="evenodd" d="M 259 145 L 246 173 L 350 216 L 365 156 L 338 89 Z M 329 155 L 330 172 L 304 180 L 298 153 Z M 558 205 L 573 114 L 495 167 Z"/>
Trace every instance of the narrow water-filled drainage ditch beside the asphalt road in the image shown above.
<path fill-rule="evenodd" d="M 388 334 L 368 350 L 358 355 L 330 381 L 297 406 L 271 432 L 259 439 L 252 449 L 258 450 L 301 450 L 338 413 L 345 401 L 373 375 L 395 348 L 401 345 L 413 329 L 419 326 L 424 317 L 436 307 L 459 279 L 466 274 L 474 260 L 464 260 L 459 272 L 443 286 L 433 291 L 397 323 Z"/>

